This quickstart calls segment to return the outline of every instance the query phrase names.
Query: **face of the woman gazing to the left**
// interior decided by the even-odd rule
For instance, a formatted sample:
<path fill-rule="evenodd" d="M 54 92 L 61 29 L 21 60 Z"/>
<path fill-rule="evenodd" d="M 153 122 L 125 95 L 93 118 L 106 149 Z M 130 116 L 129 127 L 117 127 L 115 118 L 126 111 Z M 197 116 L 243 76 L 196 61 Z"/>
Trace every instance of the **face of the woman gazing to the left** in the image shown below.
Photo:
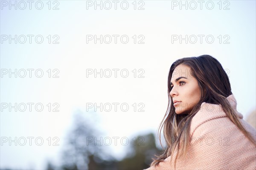
<path fill-rule="evenodd" d="M 189 114 L 201 99 L 198 81 L 192 77 L 189 66 L 180 64 L 175 68 L 172 73 L 171 87 L 170 95 L 175 112 L 177 114 Z"/>

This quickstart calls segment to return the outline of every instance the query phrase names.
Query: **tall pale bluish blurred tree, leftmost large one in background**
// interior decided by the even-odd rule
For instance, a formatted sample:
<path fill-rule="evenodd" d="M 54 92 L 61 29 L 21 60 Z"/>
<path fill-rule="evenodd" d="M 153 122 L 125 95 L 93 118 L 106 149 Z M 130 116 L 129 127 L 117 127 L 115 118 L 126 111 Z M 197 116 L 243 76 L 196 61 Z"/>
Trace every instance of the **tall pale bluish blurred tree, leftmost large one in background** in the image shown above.
<path fill-rule="evenodd" d="M 74 116 L 74 129 L 68 135 L 68 144 L 63 154 L 61 167 L 64 170 L 86 170 L 91 155 L 104 153 L 100 146 L 90 142 L 99 132 L 91 125 L 90 118 L 86 118 L 81 112 Z"/>

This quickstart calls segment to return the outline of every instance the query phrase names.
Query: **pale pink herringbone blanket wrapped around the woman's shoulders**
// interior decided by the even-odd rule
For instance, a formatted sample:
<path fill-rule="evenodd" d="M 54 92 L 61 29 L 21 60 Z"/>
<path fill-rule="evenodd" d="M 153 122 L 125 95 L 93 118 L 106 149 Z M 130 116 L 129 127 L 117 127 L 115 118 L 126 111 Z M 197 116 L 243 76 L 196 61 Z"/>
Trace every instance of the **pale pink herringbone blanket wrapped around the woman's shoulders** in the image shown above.
<path fill-rule="evenodd" d="M 236 110 L 233 94 L 227 99 L 244 128 L 256 139 L 256 129 Z M 192 118 L 190 136 L 186 157 L 177 158 L 176 170 L 256 170 L 255 145 L 231 122 L 220 105 L 202 103 Z M 174 158 L 170 161 L 169 156 L 159 166 L 146 170 L 174 170 Z"/>

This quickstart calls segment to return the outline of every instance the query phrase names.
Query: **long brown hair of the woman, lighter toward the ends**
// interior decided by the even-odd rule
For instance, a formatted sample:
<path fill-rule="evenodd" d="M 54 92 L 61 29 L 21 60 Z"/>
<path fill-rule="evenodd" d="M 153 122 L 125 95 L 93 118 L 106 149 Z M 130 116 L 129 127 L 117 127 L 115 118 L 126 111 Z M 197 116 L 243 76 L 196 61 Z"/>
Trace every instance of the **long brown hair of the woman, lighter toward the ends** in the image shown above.
<path fill-rule="evenodd" d="M 170 91 L 172 90 L 170 83 L 172 73 L 180 64 L 189 66 L 191 68 L 191 76 L 197 79 L 199 88 L 201 90 L 201 99 L 189 114 L 176 114 L 175 107 L 172 105 L 172 97 L 170 96 Z M 182 139 L 189 139 L 191 120 L 193 116 L 195 116 L 195 114 L 200 110 L 201 104 L 203 102 L 221 104 L 221 107 L 229 119 L 237 127 L 239 127 L 239 129 L 244 133 L 245 136 L 247 136 L 251 142 L 256 144 L 256 141 L 253 139 L 250 133 L 248 133 L 247 130 L 245 130 L 241 125 L 238 115 L 228 102 L 227 97 L 231 94 L 231 86 L 227 73 L 222 68 L 221 63 L 218 62 L 218 60 L 214 57 L 209 55 L 202 55 L 199 57 L 186 57 L 176 60 L 172 64 L 168 76 L 167 111 L 158 129 L 160 144 L 162 146 L 160 133 L 163 128 L 163 136 L 166 141 L 166 148 L 163 148 L 163 153 L 160 156 L 155 155 L 156 158 L 153 158 L 153 161 L 150 165 L 157 166 L 161 161 L 169 156 L 171 156 L 172 159 L 172 153 L 174 153 L 175 148 L 177 148 L 175 163 L 179 150 L 182 151 L 181 156 L 186 155 L 189 141 L 185 140 L 185 142 L 181 142 L 182 144 L 180 144 L 180 141 Z"/>

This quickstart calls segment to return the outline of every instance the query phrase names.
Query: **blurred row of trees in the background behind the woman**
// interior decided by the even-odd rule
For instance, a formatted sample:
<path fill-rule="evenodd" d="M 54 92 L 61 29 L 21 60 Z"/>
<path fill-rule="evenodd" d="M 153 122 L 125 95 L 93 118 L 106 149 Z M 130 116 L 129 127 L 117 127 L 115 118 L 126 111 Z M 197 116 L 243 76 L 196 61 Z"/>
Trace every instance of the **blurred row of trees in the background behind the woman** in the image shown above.
<path fill-rule="evenodd" d="M 67 136 L 62 155 L 62 170 L 143 170 L 149 167 L 154 154 L 160 153 L 153 133 L 129 139 L 127 154 L 118 161 L 99 140 L 96 124 L 83 113 L 75 114 L 73 129 Z M 96 138 L 96 139 L 95 139 Z M 54 170 L 48 162 L 47 170 Z"/>

